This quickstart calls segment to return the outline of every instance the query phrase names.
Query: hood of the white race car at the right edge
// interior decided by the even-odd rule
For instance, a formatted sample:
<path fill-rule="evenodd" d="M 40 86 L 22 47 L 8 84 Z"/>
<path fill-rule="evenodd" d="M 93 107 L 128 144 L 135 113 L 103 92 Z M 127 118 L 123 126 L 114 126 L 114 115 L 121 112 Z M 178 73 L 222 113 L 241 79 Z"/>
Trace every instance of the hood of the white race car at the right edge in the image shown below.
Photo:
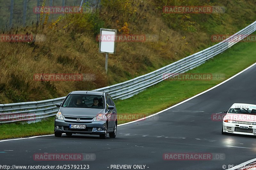
<path fill-rule="evenodd" d="M 241 122 L 256 122 L 256 115 L 228 113 L 223 118 L 223 120 L 226 120 L 226 119 L 241 121 Z"/>

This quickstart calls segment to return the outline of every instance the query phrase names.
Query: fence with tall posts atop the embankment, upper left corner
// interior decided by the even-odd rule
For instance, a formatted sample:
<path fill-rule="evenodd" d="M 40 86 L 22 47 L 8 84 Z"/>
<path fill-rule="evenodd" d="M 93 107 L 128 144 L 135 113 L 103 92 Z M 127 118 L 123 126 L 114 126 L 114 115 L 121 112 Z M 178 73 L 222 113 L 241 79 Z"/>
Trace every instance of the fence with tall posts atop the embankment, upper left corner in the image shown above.
<path fill-rule="evenodd" d="M 17 26 L 36 24 L 40 14 L 34 13 L 34 8 L 42 6 L 82 6 L 86 3 L 91 7 L 98 7 L 100 0 L 0 0 L 0 30 L 9 30 Z M 50 14 L 49 20 L 63 14 Z"/>

